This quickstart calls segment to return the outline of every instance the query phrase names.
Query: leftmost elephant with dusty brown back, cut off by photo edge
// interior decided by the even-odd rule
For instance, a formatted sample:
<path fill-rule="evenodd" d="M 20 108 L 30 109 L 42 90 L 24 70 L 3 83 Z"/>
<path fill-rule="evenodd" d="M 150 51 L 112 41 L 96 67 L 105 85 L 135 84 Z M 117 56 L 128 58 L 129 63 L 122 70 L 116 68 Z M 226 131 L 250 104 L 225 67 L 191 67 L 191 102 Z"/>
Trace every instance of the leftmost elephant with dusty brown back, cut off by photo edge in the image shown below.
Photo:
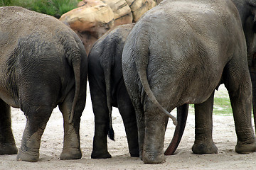
<path fill-rule="evenodd" d="M 27 119 L 17 160 L 36 162 L 43 130 L 58 105 L 64 119 L 60 159 L 80 159 L 87 77 L 82 42 L 52 16 L 21 7 L 1 7 L 0 26 L 0 154 L 17 152 L 10 106 L 21 108 Z"/>

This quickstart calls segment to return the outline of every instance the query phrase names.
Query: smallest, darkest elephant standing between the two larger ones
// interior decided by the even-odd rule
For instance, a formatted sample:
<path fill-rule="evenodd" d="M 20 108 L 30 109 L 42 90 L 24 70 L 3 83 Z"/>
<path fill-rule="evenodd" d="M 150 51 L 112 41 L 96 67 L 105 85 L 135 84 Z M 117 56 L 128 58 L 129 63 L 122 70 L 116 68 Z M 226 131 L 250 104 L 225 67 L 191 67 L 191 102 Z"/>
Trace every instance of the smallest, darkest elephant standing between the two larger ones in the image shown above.
<path fill-rule="evenodd" d="M 135 111 L 122 77 L 122 50 L 134 23 L 118 26 L 103 35 L 88 55 L 88 80 L 95 114 L 95 136 L 92 158 L 110 158 L 107 152 L 107 134 L 114 140 L 112 107 L 119 108 L 122 116 L 129 153 L 139 157 L 138 130 Z"/>

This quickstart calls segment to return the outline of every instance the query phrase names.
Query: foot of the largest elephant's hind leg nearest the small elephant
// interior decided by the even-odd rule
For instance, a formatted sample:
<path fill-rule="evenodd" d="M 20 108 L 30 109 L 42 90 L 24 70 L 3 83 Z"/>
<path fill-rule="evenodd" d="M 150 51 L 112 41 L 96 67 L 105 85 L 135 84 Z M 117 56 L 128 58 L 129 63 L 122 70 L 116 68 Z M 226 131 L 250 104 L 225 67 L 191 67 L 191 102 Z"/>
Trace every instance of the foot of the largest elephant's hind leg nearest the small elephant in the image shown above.
<path fill-rule="evenodd" d="M 164 153 L 162 154 L 151 154 L 149 152 L 143 152 L 142 160 L 144 164 L 162 164 L 166 162 Z"/>

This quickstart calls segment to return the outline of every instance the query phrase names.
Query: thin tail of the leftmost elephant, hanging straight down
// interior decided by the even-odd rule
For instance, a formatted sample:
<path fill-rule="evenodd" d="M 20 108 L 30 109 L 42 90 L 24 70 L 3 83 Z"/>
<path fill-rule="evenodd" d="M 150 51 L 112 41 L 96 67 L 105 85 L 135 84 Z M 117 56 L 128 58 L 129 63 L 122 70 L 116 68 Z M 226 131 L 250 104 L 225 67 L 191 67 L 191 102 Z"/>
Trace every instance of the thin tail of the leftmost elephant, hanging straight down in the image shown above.
<path fill-rule="evenodd" d="M 78 102 L 78 96 L 80 93 L 80 67 L 81 67 L 81 57 L 75 57 L 71 60 L 71 64 L 73 66 L 73 72 L 75 76 L 75 95 L 73 98 L 73 104 L 71 108 L 71 113 L 70 113 L 70 119 L 69 123 L 73 122 L 73 118 L 75 115 L 75 105 Z"/>

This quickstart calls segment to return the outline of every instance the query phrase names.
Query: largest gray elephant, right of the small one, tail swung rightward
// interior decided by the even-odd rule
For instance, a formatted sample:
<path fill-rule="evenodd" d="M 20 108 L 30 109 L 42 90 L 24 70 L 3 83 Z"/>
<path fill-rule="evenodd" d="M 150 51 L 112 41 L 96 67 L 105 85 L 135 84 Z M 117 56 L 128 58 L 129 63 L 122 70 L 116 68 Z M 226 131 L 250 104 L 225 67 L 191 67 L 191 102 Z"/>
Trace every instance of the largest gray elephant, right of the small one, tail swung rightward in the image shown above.
<path fill-rule="evenodd" d="M 165 162 L 168 116 L 161 106 L 170 112 L 194 103 L 193 152 L 218 152 L 212 139 L 212 110 L 214 90 L 220 84 L 228 89 L 233 108 L 238 137 L 235 151 L 256 151 L 245 35 L 232 1 L 162 1 L 128 35 L 122 69 L 137 114 L 144 163 Z"/>

